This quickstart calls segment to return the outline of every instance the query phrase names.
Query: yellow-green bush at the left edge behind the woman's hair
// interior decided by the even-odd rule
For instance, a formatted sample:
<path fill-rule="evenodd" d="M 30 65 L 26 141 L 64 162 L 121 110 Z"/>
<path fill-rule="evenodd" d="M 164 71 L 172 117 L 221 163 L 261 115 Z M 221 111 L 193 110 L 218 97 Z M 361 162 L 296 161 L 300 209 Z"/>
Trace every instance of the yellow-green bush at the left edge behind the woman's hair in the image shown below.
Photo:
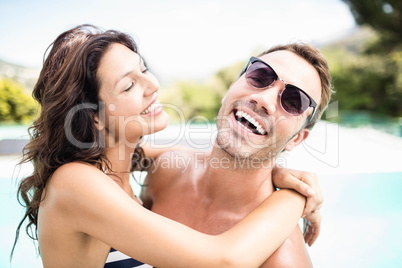
<path fill-rule="evenodd" d="M 10 79 L 0 79 L 0 122 L 27 123 L 38 110 L 34 99 Z"/>

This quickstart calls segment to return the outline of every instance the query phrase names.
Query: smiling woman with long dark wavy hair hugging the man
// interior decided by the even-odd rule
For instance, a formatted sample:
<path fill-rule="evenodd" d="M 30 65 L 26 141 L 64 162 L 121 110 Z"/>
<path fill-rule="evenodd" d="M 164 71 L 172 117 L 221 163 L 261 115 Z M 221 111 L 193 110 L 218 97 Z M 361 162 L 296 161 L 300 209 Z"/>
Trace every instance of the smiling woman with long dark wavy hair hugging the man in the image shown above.
<path fill-rule="evenodd" d="M 141 136 L 168 123 L 158 88 L 123 33 L 81 25 L 52 44 L 24 150 L 34 171 L 19 187 L 27 211 L 18 229 L 28 218 L 45 267 L 103 267 L 111 248 L 153 266 L 256 267 L 294 229 L 305 199 L 288 190 L 218 236 L 141 206 L 129 185 L 131 157 Z"/>

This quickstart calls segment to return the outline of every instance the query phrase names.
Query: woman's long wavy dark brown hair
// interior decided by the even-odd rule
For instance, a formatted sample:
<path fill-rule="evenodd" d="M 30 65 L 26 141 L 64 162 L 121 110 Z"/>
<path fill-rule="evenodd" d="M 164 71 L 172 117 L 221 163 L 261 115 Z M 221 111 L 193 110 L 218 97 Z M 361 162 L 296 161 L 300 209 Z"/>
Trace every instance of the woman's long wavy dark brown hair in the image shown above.
<path fill-rule="evenodd" d="M 39 205 L 43 190 L 57 168 L 78 161 L 110 170 L 110 162 L 104 156 L 104 137 L 95 126 L 95 115 L 101 109 L 97 70 L 112 43 L 123 44 L 138 53 L 129 35 L 88 24 L 59 35 L 47 49 L 50 50 L 47 57 L 45 53 L 43 68 L 33 89 L 41 112 L 29 128 L 30 141 L 20 163 L 31 162 L 33 173 L 19 184 L 18 200 L 26 211 L 17 227 L 10 259 L 26 219 L 26 233 L 38 240 Z M 72 137 L 78 143 L 71 142 Z M 136 150 L 138 162 L 139 155 L 143 155 L 141 148 Z"/>

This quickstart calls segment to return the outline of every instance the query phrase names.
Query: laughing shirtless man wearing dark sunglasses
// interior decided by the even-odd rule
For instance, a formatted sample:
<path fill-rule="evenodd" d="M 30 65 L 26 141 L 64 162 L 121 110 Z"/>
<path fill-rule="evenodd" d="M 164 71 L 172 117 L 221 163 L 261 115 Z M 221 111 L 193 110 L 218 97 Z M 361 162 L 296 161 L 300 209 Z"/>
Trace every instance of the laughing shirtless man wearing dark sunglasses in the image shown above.
<path fill-rule="evenodd" d="M 228 230 L 281 187 L 271 177 L 275 159 L 308 137 L 330 95 L 328 65 L 310 45 L 276 46 L 251 58 L 222 100 L 212 152 L 162 154 L 154 168 L 158 161 L 170 168 L 151 167 L 144 204 L 204 233 Z M 319 225 L 319 211 L 305 216 Z M 317 235 L 310 232 L 309 245 Z M 298 226 L 262 265 L 311 266 Z"/>

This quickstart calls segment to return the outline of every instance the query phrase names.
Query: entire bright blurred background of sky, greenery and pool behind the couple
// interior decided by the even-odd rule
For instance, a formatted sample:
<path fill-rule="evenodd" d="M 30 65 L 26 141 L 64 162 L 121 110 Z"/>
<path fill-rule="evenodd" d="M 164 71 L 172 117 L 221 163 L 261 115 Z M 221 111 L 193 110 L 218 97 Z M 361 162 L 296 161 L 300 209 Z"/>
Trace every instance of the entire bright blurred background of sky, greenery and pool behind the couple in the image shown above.
<path fill-rule="evenodd" d="M 161 101 L 182 112 L 167 107 L 171 126 L 149 139 L 180 133 L 193 147 L 210 146 L 220 100 L 251 55 L 279 43 L 317 46 L 337 93 L 307 141 L 278 159 L 320 177 L 326 200 L 311 258 L 315 267 L 401 267 L 401 14 L 398 0 L 0 0 L 0 267 L 10 266 L 22 215 L 13 172 L 38 109 L 30 92 L 46 48 L 82 23 L 135 38 Z M 41 267 L 25 234 L 12 267 Z"/>

